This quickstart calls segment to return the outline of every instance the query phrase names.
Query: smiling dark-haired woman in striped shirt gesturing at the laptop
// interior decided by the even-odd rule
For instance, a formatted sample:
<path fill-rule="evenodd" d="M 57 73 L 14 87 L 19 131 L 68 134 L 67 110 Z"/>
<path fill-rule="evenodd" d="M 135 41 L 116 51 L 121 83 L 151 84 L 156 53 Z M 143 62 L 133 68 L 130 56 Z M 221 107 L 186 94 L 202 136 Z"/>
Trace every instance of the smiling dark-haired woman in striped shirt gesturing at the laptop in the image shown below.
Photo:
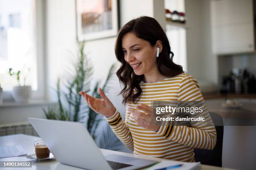
<path fill-rule="evenodd" d="M 105 116 L 124 145 L 134 154 L 187 162 L 195 161 L 194 148 L 214 148 L 216 131 L 206 107 L 207 123 L 192 127 L 151 123 L 151 101 L 204 100 L 197 81 L 172 61 L 169 41 L 154 18 L 125 24 L 118 33 L 115 55 L 121 62 L 117 76 L 127 104 L 125 121 L 101 89 L 102 99 L 80 94 L 92 110 Z"/>

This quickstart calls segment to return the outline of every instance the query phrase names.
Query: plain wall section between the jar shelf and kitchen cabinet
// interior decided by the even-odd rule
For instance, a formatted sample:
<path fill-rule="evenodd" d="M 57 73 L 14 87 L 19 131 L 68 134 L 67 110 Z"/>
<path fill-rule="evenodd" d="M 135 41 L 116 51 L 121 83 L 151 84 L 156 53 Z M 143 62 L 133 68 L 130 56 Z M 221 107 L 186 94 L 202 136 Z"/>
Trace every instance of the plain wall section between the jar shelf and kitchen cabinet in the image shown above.
<path fill-rule="evenodd" d="M 217 57 L 212 54 L 210 0 L 185 0 L 187 70 L 197 80 L 218 83 Z"/>

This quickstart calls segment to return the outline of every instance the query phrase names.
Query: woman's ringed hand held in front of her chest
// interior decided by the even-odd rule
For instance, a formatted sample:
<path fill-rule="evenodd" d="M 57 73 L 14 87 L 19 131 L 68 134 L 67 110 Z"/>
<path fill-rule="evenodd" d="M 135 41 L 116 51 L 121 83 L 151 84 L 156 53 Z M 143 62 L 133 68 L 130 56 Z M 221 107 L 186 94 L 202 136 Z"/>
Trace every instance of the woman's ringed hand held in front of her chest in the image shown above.
<path fill-rule="evenodd" d="M 135 122 L 142 128 L 155 132 L 158 131 L 160 125 L 156 125 L 156 120 L 154 120 L 155 118 L 152 115 L 151 107 L 140 103 L 140 105 L 137 105 L 136 108 L 142 110 L 144 113 L 129 107 L 128 111 L 133 114 Z"/>

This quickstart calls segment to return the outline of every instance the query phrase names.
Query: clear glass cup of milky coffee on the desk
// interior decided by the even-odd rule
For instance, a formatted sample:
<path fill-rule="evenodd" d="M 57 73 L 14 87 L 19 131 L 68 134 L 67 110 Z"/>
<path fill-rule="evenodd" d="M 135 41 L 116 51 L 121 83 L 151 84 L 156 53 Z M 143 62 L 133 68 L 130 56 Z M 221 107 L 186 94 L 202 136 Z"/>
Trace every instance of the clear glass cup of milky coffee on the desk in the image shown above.
<path fill-rule="evenodd" d="M 47 148 L 43 140 L 35 141 L 34 146 L 37 159 L 44 159 L 50 156 L 50 150 Z"/>

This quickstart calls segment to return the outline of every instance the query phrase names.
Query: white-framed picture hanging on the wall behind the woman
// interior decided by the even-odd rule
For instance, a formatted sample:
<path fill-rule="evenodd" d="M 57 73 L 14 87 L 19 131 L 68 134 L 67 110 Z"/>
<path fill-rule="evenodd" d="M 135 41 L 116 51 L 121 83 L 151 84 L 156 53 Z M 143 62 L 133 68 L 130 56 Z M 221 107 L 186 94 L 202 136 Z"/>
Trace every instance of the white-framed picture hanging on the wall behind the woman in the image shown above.
<path fill-rule="evenodd" d="M 116 36 L 119 29 L 119 0 L 76 0 L 79 41 Z"/>

